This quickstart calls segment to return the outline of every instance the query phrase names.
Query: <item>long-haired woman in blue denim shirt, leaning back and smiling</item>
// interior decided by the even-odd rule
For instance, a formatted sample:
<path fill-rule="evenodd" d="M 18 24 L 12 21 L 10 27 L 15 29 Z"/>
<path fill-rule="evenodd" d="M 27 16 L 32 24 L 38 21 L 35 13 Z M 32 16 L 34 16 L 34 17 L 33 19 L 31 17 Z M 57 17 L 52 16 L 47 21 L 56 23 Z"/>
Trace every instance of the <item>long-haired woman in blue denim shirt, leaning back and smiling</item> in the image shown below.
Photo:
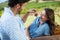
<path fill-rule="evenodd" d="M 34 22 L 27 28 L 28 38 L 36 38 L 40 36 L 52 35 L 54 30 L 54 11 L 50 8 L 45 8 L 40 17 L 37 17 Z"/>

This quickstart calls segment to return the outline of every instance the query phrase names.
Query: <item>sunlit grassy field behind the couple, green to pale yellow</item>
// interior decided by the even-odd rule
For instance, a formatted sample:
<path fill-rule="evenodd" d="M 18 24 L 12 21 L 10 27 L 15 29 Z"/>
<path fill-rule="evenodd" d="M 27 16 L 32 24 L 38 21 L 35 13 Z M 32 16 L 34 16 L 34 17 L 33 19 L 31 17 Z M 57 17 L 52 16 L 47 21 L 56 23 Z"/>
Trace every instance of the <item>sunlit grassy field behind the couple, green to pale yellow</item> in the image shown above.
<path fill-rule="evenodd" d="M 3 5 L 0 4 L 0 8 L 7 6 L 7 3 L 4 3 Z M 55 21 L 60 24 L 60 1 L 55 2 L 43 2 L 43 3 L 35 3 L 31 2 L 26 5 L 26 8 L 21 12 L 21 15 L 25 14 L 27 10 L 35 8 L 40 13 L 44 8 L 51 8 L 55 11 Z M 0 11 L 0 16 L 2 15 L 3 10 Z M 58 14 L 58 15 L 56 15 Z M 32 23 L 32 21 L 35 19 L 33 15 L 30 15 L 25 23 L 25 26 L 27 27 Z"/>

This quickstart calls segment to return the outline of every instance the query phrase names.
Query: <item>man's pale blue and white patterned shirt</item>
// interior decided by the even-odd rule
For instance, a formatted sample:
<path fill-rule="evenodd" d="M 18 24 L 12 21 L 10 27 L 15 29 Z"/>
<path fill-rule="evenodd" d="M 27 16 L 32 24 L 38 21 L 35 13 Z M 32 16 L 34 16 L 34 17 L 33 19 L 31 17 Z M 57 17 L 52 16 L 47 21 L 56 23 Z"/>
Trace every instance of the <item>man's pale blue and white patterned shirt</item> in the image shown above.
<path fill-rule="evenodd" d="M 27 40 L 22 19 L 18 14 L 14 16 L 10 8 L 5 8 L 0 21 L 2 40 Z"/>

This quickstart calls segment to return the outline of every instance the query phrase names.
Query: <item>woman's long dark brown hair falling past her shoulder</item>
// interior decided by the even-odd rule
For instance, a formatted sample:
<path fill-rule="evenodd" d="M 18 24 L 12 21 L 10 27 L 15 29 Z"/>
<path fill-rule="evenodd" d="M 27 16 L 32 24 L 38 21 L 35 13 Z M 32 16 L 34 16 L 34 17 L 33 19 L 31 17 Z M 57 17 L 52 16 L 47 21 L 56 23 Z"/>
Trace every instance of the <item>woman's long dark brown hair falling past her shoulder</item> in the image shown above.
<path fill-rule="evenodd" d="M 48 17 L 49 20 L 47 20 L 46 22 L 49 25 L 50 28 L 50 34 L 53 35 L 54 34 L 54 29 L 55 29 L 55 16 L 54 16 L 54 10 L 50 9 L 50 8 L 45 8 L 44 9 L 46 12 L 46 15 Z"/>

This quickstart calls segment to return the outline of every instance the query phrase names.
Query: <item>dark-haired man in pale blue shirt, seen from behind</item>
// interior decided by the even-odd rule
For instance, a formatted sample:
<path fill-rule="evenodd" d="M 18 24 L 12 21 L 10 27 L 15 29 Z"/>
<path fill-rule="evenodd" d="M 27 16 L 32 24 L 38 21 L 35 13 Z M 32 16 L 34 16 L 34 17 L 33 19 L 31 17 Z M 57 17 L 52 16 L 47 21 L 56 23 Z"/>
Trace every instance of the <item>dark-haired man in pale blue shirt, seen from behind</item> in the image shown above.
<path fill-rule="evenodd" d="M 0 19 L 2 40 L 28 40 L 24 31 L 24 22 L 30 11 L 22 18 L 19 17 L 19 12 L 25 7 L 29 0 L 9 0 L 8 6 Z"/>

